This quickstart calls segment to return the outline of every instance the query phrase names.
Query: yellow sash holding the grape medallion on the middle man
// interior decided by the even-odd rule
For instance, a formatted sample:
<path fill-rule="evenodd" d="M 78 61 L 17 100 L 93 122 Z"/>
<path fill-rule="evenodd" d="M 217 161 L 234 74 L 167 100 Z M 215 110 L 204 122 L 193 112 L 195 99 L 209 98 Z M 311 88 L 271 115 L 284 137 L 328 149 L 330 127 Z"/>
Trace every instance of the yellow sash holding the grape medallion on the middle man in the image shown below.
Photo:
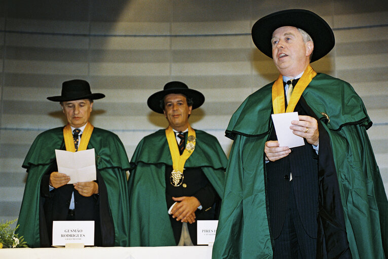
<path fill-rule="evenodd" d="M 168 126 L 166 128 L 166 138 L 167 138 L 168 147 L 170 149 L 171 158 L 172 158 L 172 169 L 183 172 L 183 168 L 185 167 L 186 160 L 194 152 L 195 131 L 191 128 L 189 124 L 189 135 L 187 138 L 188 144 L 186 145 L 186 148 L 183 151 L 182 155 L 179 154 L 177 139 L 175 138 L 175 133 L 172 131 L 171 126 Z"/>

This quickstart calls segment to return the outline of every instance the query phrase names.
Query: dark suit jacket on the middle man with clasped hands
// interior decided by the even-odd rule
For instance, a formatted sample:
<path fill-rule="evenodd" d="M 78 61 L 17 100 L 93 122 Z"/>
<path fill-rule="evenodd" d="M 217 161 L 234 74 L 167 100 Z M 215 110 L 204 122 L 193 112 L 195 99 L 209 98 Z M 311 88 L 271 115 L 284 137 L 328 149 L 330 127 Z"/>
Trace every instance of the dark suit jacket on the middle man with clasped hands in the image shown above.
<path fill-rule="evenodd" d="M 166 166 L 166 201 L 167 209 L 175 202 L 172 197 L 194 196 L 202 205 L 202 209 L 195 211 L 196 222 L 187 224 L 191 241 L 194 245 L 197 244 L 197 220 L 217 220 L 218 219 L 218 203 L 220 197 L 216 190 L 211 186 L 201 168 L 186 168 L 184 170 L 184 179 L 182 185 L 174 187 L 170 183 L 171 166 Z M 186 187 L 183 187 L 186 184 Z M 170 222 L 174 232 L 175 241 L 179 242 L 181 238 L 182 223 L 172 218 Z"/>

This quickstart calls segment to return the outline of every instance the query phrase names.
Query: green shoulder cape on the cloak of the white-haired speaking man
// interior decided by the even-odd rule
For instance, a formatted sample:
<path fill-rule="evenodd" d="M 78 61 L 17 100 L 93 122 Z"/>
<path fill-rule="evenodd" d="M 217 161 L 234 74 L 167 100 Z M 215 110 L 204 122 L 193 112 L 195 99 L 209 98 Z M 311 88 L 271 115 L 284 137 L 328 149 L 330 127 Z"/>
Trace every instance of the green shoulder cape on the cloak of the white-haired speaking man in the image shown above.
<path fill-rule="evenodd" d="M 272 114 L 272 84 L 265 85 L 240 105 L 230 119 L 227 137 L 233 139 L 236 134 L 257 137 L 268 132 Z M 321 120 L 326 119 L 322 112 L 329 116 L 330 123 L 325 124 L 331 131 L 340 131 L 349 124 L 363 125 L 366 129 L 372 125 L 361 98 L 343 80 L 318 73 L 302 96 Z M 258 115 L 261 123 L 252 123 Z"/>

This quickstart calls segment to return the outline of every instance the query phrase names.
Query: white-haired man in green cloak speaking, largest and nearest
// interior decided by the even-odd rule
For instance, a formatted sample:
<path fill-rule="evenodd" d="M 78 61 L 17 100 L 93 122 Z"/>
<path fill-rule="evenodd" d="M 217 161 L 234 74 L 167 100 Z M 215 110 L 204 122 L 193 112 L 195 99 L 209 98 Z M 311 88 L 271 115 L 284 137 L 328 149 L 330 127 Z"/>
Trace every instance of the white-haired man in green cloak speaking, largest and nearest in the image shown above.
<path fill-rule="evenodd" d="M 372 122 L 347 82 L 310 66 L 334 47 L 330 26 L 284 10 L 259 19 L 252 38 L 280 75 L 226 130 L 233 195 L 223 197 L 213 258 L 385 258 L 388 202 L 366 133 Z M 280 146 L 271 114 L 294 111 L 289 128 L 304 145 Z"/>

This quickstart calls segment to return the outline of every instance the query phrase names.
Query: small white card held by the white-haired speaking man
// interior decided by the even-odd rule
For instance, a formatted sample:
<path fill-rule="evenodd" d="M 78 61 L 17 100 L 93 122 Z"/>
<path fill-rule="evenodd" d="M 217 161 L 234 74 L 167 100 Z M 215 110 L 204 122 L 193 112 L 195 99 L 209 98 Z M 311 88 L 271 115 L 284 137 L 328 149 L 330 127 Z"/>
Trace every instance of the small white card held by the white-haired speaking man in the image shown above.
<path fill-rule="evenodd" d="M 277 113 L 271 116 L 280 147 L 293 148 L 304 145 L 303 138 L 293 134 L 290 129 L 291 121 L 299 120 L 298 112 Z"/>

